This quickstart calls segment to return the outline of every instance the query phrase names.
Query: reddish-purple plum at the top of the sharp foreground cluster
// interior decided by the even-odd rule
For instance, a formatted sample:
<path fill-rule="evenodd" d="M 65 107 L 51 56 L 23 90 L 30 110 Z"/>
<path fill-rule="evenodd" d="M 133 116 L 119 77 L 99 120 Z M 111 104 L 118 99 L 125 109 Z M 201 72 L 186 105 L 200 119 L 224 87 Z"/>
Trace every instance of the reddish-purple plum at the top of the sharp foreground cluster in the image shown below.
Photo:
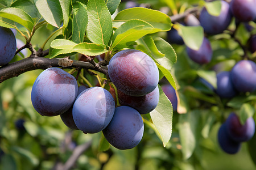
<path fill-rule="evenodd" d="M 109 78 L 124 94 L 144 96 L 158 85 L 159 71 L 147 54 L 134 49 L 122 50 L 109 61 Z"/>

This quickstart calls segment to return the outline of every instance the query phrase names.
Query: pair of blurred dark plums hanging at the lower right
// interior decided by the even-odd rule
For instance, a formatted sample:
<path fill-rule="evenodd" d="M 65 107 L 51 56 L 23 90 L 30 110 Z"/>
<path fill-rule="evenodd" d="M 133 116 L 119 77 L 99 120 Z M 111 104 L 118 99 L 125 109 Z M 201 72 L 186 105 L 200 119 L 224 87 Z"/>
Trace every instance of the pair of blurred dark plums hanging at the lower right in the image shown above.
<path fill-rule="evenodd" d="M 218 130 L 218 143 L 226 153 L 236 154 L 240 150 L 241 142 L 249 141 L 254 132 L 253 117 L 247 118 L 245 124 L 242 125 L 237 114 L 230 113 Z"/>

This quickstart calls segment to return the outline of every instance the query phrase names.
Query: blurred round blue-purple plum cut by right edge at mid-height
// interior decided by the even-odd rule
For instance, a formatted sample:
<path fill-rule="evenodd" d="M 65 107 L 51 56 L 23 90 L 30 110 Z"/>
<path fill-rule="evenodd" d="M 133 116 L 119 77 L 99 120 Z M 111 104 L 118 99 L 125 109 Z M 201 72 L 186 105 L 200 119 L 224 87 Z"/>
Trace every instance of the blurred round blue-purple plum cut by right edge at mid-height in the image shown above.
<path fill-rule="evenodd" d="M 241 60 L 231 70 L 231 80 L 239 92 L 253 92 L 256 88 L 256 64 Z"/>

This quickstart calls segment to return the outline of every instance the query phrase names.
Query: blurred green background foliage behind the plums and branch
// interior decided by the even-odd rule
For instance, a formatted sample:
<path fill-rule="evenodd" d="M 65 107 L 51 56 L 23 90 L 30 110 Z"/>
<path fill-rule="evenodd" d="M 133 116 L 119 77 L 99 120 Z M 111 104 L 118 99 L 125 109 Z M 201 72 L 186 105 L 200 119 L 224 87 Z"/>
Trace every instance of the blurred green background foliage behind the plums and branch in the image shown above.
<path fill-rule="evenodd" d="M 118 10 L 126 8 L 126 3 L 127 1 L 122 1 Z M 171 16 L 182 14 L 193 5 L 201 6 L 202 2 L 139 0 L 135 3 Z M 230 28 L 234 24 L 233 19 Z M 51 25 L 45 25 L 36 31 L 31 41 L 34 48 L 42 46 L 55 29 Z M 166 32 L 160 32 L 156 36 L 167 40 Z M 237 31 L 238 39 L 245 44 L 249 36 L 250 33 L 241 24 Z M 25 42 L 19 34 L 16 38 Z M 89 148 L 77 159 L 72 169 L 255 169 L 246 142 L 242 143 L 241 150 L 235 155 L 226 154 L 217 143 L 220 125 L 230 112 L 237 109 L 237 104 L 242 104 L 238 97 L 243 99 L 246 96 L 237 96 L 231 101 L 220 99 L 199 79 L 201 77 L 216 81 L 216 73 L 229 71 L 241 59 L 242 49 L 225 32 L 208 38 L 213 57 L 207 65 L 191 61 L 184 45 L 171 44 L 177 53 L 177 63 L 171 72 L 178 88 L 178 110 L 181 109 L 186 114 L 174 112 L 172 137 L 166 147 L 163 147 L 162 141 L 147 125 L 141 143 L 131 150 L 122 151 L 106 143 L 103 145 L 101 133 L 83 134 L 80 130 L 69 130 L 60 116 L 40 116 L 32 107 L 30 96 L 32 84 L 42 70 L 29 71 L 1 83 L 0 169 L 54 169 L 57 164 L 67 162 L 75 148 L 84 143 L 88 143 Z M 47 47 L 50 42 L 51 40 L 46 44 Z M 12 62 L 19 59 L 19 56 L 15 56 Z M 165 80 L 160 81 L 160 84 L 165 83 Z M 255 105 L 255 97 L 250 101 Z M 234 107 L 227 107 L 228 102 Z M 251 140 L 254 140 L 255 145 L 256 139 Z M 255 155 L 256 148 L 250 148 L 250 151 Z"/>

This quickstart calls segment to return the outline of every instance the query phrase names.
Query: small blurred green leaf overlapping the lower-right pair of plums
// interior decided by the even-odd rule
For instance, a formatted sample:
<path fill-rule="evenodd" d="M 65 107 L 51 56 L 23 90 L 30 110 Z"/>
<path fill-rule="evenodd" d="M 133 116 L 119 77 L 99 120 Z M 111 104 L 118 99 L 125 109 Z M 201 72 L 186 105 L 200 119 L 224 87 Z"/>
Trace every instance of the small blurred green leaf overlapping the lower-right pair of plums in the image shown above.
<path fill-rule="evenodd" d="M 247 118 L 252 117 L 254 112 L 255 112 L 255 110 L 252 105 L 250 105 L 249 103 L 242 104 L 242 107 L 238 114 L 241 124 L 244 125 Z"/>

